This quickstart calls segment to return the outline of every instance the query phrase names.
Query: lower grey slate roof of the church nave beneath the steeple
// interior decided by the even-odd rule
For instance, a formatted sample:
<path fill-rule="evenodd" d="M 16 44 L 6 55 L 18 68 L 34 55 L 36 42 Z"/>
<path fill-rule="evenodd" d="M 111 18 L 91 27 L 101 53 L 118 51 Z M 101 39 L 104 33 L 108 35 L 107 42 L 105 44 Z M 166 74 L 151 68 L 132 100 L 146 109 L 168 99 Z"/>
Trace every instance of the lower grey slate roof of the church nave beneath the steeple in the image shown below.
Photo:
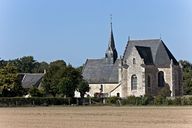
<path fill-rule="evenodd" d="M 87 59 L 83 68 L 83 77 L 91 84 L 118 83 L 118 64 L 108 63 L 104 59 Z"/>

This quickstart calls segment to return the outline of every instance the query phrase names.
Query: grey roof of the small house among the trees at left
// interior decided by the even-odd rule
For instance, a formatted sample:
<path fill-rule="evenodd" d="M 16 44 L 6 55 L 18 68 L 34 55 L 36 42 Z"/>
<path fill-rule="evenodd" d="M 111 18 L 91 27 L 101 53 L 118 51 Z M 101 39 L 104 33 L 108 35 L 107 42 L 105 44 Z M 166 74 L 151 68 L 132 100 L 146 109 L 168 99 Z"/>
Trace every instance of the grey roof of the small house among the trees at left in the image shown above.
<path fill-rule="evenodd" d="M 19 75 L 22 76 L 22 87 L 32 88 L 39 86 L 44 73 L 20 73 Z"/>

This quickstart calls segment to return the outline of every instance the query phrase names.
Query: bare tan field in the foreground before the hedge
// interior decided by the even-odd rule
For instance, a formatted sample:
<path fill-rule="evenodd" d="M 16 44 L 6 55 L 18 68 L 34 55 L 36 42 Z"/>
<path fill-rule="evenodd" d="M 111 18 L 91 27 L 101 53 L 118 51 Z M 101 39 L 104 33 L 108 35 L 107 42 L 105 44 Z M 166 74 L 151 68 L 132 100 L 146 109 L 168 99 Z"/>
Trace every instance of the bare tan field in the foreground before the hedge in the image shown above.
<path fill-rule="evenodd" d="M 192 107 L 0 108 L 0 128 L 192 128 Z"/>

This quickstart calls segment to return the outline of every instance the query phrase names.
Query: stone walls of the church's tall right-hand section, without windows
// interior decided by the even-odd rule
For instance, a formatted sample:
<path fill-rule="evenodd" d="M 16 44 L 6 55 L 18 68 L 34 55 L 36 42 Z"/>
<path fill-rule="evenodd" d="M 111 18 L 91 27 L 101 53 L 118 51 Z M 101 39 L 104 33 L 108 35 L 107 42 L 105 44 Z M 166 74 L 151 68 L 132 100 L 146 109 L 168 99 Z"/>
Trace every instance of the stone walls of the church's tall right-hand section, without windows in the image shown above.
<path fill-rule="evenodd" d="M 135 62 L 133 62 L 135 61 Z M 182 95 L 182 69 L 178 65 L 170 64 L 170 67 L 158 68 L 154 65 L 145 65 L 136 48 L 131 49 L 131 54 L 125 59 L 121 68 L 121 93 L 122 97 L 130 95 L 141 96 L 149 94 L 158 95 L 162 87 L 158 86 L 158 73 L 164 73 L 165 86 L 169 86 L 171 96 Z M 120 72 L 120 71 L 119 71 Z M 131 89 L 131 77 L 137 76 L 137 90 Z M 149 82 L 150 77 L 150 82 Z M 150 85 L 149 85 L 150 83 Z"/>

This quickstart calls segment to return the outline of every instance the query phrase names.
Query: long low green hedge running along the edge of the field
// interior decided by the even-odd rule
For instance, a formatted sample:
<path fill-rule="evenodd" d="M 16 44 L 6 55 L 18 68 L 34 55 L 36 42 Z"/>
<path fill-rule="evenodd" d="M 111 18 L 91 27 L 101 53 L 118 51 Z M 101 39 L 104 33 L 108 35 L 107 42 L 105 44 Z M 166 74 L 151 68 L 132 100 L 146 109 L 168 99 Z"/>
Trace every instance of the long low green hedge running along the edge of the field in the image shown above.
<path fill-rule="evenodd" d="M 82 102 L 83 101 L 83 102 Z M 105 101 L 105 102 L 104 102 Z M 129 96 L 127 98 L 109 97 L 109 98 L 53 98 L 53 97 L 0 97 L 0 107 L 17 107 L 17 106 L 49 106 L 49 105 L 192 105 L 192 97 L 163 97 L 163 96 Z"/>

